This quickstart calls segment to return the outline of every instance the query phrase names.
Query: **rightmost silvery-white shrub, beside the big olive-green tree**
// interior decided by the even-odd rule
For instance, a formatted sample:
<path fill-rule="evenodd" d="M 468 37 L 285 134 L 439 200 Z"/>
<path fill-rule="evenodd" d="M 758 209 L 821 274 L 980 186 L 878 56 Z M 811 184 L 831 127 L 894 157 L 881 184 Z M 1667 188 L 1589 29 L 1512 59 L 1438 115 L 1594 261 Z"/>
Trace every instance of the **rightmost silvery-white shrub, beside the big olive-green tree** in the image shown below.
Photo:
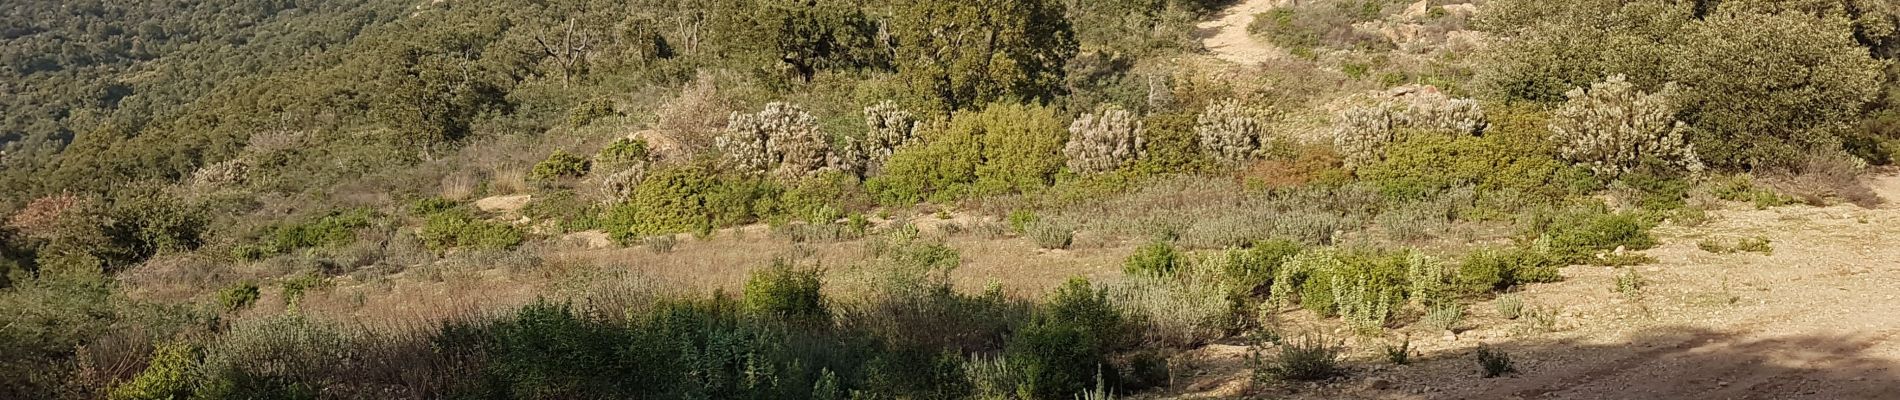
<path fill-rule="evenodd" d="M 1676 119 L 1676 85 L 1644 93 L 1623 74 L 1577 87 L 1550 116 L 1550 140 L 1573 163 L 1598 174 L 1623 174 L 1644 159 L 1662 161 L 1682 173 L 1700 173 L 1702 159 L 1689 142 L 1689 125 Z"/>

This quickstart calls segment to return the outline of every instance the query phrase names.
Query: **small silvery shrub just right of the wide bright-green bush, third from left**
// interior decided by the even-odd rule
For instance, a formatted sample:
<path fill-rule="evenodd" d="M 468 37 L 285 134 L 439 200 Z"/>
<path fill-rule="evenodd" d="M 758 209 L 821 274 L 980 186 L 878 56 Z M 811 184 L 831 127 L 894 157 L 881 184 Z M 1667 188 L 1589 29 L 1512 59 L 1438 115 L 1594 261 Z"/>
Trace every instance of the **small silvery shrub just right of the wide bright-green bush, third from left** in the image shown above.
<path fill-rule="evenodd" d="M 1070 123 L 1070 140 L 1062 146 L 1062 155 L 1068 155 L 1070 171 L 1106 173 L 1140 159 L 1144 144 L 1142 119 L 1119 106 L 1108 106 Z"/>

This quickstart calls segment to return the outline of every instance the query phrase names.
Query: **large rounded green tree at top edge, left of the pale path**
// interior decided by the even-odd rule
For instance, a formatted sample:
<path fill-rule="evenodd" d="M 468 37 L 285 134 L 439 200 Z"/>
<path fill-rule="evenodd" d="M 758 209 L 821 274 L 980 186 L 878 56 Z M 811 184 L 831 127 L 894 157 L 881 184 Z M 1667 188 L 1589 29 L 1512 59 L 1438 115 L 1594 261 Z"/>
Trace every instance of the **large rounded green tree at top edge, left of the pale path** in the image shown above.
<path fill-rule="evenodd" d="M 1075 32 L 1049 0 L 912 2 L 891 21 L 899 78 L 937 110 L 1062 91 Z"/>

